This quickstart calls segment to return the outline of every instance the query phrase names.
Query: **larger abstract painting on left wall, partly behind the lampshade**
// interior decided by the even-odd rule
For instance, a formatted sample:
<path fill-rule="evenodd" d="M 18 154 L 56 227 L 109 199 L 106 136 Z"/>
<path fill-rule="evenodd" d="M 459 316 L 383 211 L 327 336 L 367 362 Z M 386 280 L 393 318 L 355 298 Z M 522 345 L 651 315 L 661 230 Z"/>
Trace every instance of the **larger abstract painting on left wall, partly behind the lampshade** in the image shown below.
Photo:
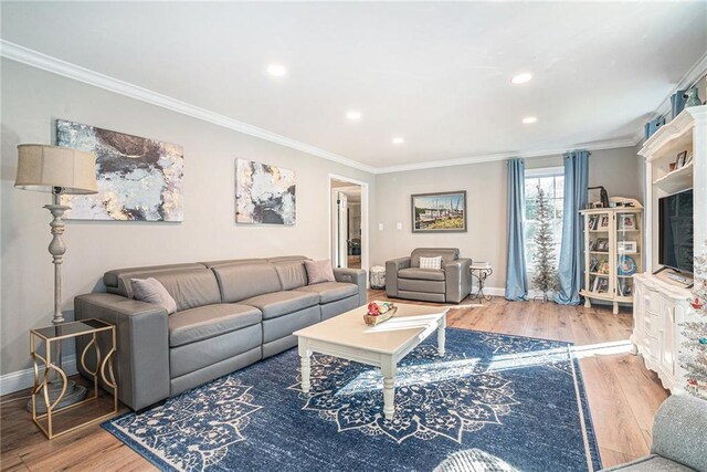
<path fill-rule="evenodd" d="M 56 144 L 96 156 L 98 193 L 63 196 L 72 220 L 182 221 L 181 146 L 56 120 Z"/>

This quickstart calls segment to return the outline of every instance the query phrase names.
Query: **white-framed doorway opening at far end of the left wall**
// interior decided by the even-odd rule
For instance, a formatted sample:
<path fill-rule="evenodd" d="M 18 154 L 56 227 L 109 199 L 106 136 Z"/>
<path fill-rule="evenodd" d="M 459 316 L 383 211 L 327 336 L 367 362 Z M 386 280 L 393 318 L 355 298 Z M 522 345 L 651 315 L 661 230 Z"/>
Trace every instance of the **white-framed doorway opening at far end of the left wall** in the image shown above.
<path fill-rule="evenodd" d="M 329 176 L 331 263 L 368 271 L 368 185 Z"/>

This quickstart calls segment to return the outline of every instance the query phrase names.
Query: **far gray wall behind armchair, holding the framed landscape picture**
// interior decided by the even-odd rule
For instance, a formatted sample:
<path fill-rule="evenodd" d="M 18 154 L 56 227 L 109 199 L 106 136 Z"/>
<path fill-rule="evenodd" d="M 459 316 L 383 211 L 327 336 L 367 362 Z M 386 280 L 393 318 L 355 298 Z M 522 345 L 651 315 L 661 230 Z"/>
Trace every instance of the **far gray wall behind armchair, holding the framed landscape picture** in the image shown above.
<path fill-rule="evenodd" d="M 604 186 L 610 197 L 631 197 L 643 201 L 643 165 L 634 147 L 592 151 L 589 162 L 590 186 Z M 562 156 L 526 159 L 527 169 L 556 166 L 562 166 Z M 466 190 L 468 231 L 413 233 L 410 196 L 451 190 Z M 382 265 L 388 259 L 410 254 L 414 248 L 460 248 L 462 255 L 493 264 L 494 274 L 487 282 L 488 286 L 505 286 L 505 161 L 378 175 L 374 201 L 377 214 L 370 225 L 374 241 L 371 265 Z M 395 229 L 397 222 L 402 223 L 402 230 Z M 383 231 L 378 230 L 379 223 L 383 223 Z"/>

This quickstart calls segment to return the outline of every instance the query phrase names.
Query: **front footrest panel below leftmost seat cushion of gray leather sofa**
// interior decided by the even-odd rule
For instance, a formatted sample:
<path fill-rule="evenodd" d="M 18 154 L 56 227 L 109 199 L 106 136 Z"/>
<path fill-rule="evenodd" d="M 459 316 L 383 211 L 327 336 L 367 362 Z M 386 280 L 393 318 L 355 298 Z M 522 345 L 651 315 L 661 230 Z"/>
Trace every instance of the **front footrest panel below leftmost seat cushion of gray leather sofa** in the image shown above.
<path fill-rule="evenodd" d="M 220 336 L 202 339 L 169 349 L 170 378 L 181 377 L 203 369 L 212 364 L 238 356 L 263 342 L 263 328 L 260 323 L 224 333 Z"/>

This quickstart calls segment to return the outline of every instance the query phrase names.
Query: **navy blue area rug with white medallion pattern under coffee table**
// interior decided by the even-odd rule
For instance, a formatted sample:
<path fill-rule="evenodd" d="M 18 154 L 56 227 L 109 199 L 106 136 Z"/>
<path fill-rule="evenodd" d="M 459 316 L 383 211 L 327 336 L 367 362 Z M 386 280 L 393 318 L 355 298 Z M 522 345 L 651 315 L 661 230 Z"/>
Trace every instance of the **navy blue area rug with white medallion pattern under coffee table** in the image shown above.
<path fill-rule="evenodd" d="M 315 354 L 306 395 L 291 349 L 103 427 L 169 471 L 599 470 L 570 347 L 447 328 L 400 364 L 392 421 L 377 369 Z"/>

